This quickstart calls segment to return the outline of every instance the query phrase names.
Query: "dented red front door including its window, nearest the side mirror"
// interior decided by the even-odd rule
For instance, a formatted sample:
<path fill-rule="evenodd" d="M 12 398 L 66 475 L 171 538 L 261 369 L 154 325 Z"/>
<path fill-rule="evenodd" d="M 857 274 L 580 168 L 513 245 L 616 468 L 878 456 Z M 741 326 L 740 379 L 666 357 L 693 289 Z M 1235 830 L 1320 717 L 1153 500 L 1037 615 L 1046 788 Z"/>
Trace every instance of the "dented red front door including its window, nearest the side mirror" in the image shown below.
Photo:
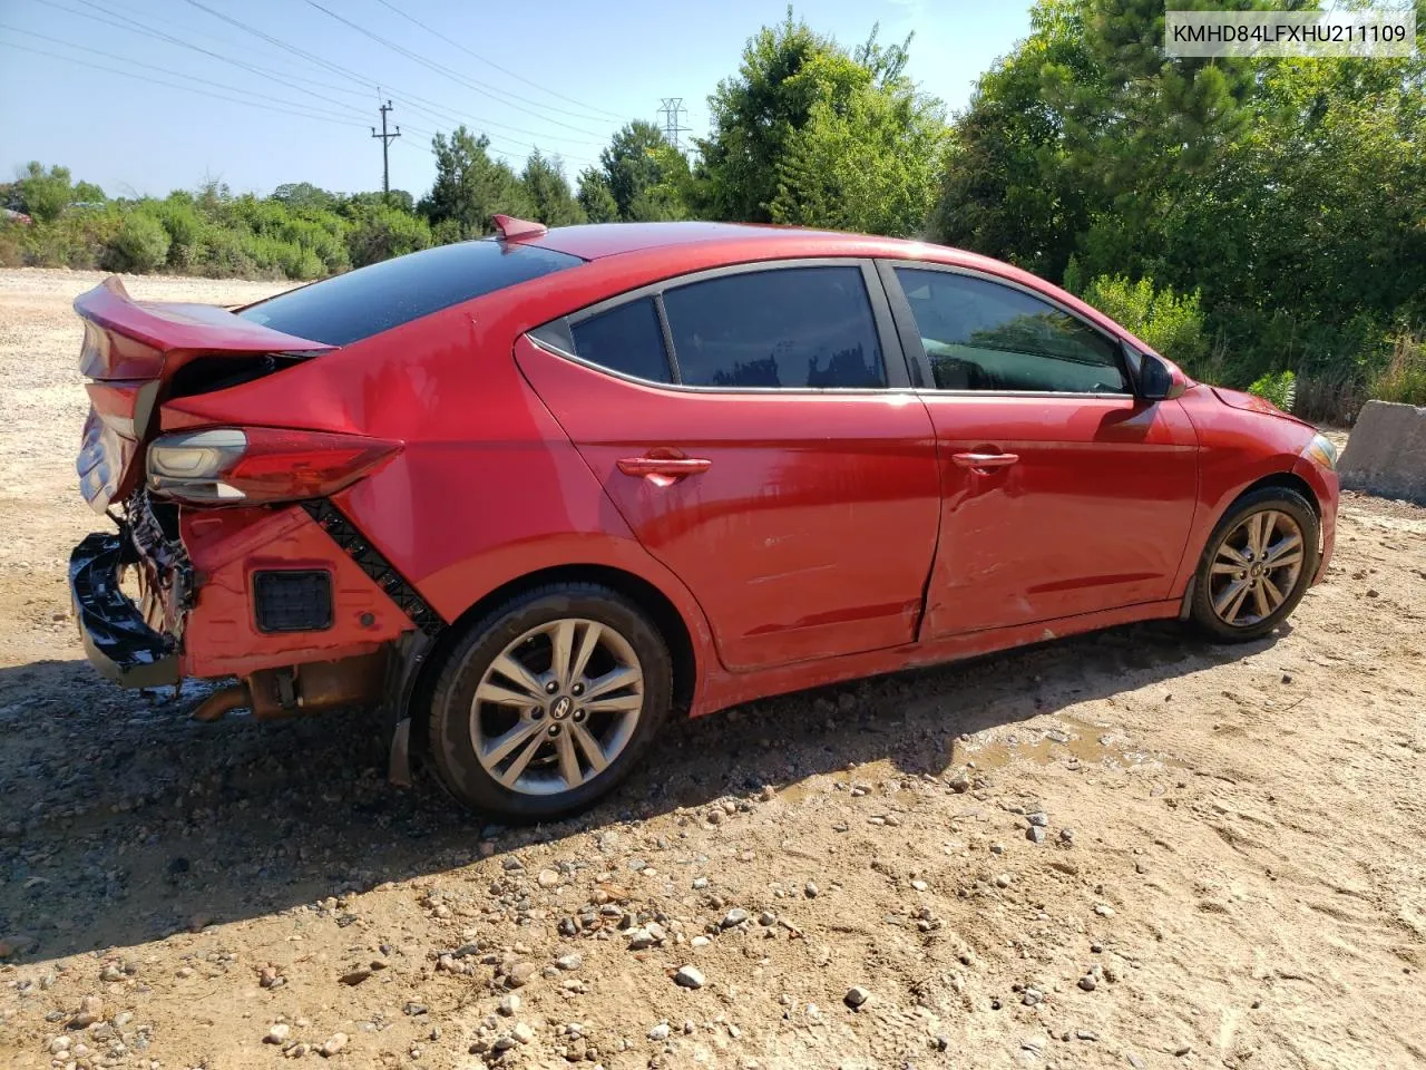
<path fill-rule="evenodd" d="M 923 638 L 1171 596 L 1198 484 L 1176 401 L 1142 401 L 1118 341 L 978 272 L 883 265 L 941 448 Z"/>

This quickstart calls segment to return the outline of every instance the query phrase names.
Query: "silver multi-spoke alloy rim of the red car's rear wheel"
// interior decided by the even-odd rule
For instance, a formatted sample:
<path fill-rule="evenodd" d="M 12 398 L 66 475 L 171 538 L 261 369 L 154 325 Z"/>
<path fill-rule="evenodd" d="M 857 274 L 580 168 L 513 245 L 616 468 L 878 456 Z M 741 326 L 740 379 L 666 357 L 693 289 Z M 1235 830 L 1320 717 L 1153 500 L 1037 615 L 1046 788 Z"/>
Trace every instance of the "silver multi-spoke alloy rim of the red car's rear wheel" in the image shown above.
<path fill-rule="evenodd" d="M 578 618 L 509 643 L 471 702 L 471 742 L 485 770 L 522 795 L 558 795 L 599 776 L 633 738 L 643 666 L 615 628 Z"/>

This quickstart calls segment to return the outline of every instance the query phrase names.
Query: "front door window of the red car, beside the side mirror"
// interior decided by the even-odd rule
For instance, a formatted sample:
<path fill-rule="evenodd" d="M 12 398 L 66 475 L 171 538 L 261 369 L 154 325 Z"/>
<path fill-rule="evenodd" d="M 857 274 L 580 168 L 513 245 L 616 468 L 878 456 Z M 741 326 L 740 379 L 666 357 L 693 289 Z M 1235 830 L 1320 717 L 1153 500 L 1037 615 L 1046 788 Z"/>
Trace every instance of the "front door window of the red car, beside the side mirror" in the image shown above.
<path fill-rule="evenodd" d="M 1131 392 L 1118 345 L 1048 301 L 947 271 L 896 275 L 938 389 Z"/>

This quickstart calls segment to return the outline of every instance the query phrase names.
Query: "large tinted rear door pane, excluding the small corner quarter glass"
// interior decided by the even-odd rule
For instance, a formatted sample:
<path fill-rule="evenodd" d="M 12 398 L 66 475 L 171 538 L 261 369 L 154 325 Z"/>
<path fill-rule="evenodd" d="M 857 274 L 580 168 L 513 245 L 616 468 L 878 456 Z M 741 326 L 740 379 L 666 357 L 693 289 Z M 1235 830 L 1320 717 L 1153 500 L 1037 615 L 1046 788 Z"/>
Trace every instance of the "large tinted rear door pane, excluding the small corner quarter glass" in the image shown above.
<path fill-rule="evenodd" d="M 750 271 L 663 295 L 694 387 L 884 387 L 860 267 Z"/>

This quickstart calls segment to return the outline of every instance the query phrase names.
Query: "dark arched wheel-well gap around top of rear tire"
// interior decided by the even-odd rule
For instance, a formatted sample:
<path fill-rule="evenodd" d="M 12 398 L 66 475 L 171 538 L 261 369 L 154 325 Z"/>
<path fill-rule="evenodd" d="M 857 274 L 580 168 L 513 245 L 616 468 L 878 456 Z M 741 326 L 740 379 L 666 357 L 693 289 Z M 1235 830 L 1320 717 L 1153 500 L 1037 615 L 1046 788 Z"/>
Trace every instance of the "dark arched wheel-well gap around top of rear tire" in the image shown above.
<path fill-rule="evenodd" d="M 446 655 L 471 623 L 520 592 L 550 584 L 599 584 L 623 595 L 647 613 L 669 646 L 669 658 L 673 663 L 673 712 L 687 715 L 693 705 L 700 665 L 693 632 L 673 601 L 655 584 L 627 569 L 613 565 L 562 564 L 535 569 L 501 584 L 476 599 L 461 616 L 442 629 L 424 653 L 424 661 L 411 686 L 408 708 L 402 710 L 401 716 L 406 716 L 415 709 L 424 709 L 429 703 Z M 426 746 L 425 722 L 424 716 L 411 719 L 411 743 L 416 750 Z"/>

